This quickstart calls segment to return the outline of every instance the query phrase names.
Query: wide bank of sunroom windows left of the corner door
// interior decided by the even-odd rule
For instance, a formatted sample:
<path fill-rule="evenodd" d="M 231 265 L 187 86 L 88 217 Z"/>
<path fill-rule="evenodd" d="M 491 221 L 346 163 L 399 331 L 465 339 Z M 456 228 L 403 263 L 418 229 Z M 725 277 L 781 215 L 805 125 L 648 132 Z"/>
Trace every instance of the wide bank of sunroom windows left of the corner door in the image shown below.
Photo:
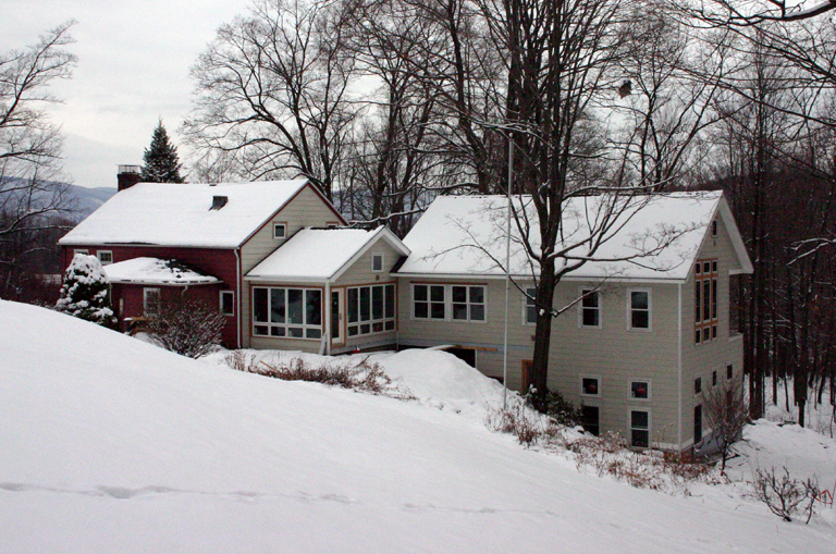
<path fill-rule="evenodd" d="M 322 336 L 320 288 L 253 288 L 253 334 L 290 338 Z"/>

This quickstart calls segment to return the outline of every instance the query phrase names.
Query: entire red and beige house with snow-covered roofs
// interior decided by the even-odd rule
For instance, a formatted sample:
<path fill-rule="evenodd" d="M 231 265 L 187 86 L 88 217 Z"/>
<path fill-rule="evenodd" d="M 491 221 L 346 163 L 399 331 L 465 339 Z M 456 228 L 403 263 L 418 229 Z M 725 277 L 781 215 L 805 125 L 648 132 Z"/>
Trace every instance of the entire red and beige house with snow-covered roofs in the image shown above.
<path fill-rule="evenodd" d="M 565 222 L 567 244 L 583 244 L 599 213 L 593 198 L 579 201 L 565 210 L 574 218 Z M 595 433 L 684 451 L 704 434 L 700 391 L 742 370 L 729 280 L 752 266 L 720 193 L 634 201 L 593 259 L 555 292 L 554 307 L 570 308 L 552 325 L 549 385 L 582 405 Z M 448 346 L 500 379 L 505 202 L 440 197 L 399 241 L 384 227 L 345 227 L 306 180 L 140 183 L 60 244 L 64 267 L 75 253 L 106 264 L 123 329 L 158 299 L 190 295 L 228 316 L 229 347 Z M 532 217 L 526 224 L 537 227 Z M 538 274 L 521 247 L 524 226 L 512 229 L 507 385 L 525 391 Z"/>

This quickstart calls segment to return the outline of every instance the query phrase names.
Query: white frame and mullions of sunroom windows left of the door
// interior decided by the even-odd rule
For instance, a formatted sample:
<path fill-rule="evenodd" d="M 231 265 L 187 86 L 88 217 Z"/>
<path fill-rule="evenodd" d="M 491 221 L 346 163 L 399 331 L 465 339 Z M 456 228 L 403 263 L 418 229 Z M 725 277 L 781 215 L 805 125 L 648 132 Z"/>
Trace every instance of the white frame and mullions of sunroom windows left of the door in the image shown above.
<path fill-rule="evenodd" d="M 322 336 L 324 334 L 324 324 L 325 324 L 325 310 L 323 309 L 323 298 L 324 298 L 324 290 L 322 287 L 318 286 L 266 286 L 266 285 L 258 285 L 253 286 L 251 288 L 253 294 L 250 295 L 250 301 L 253 303 L 250 306 L 250 334 L 255 337 L 265 337 L 265 338 L 280 338 L 280 340 L 293 340 L 293 341 L 321 341 Z M 258 321 L 256 319 L 256 292 L 257 291 L 267 291 L 267 305 L 266 305 L 266 318 L 267 321 Z M 273 316 L 273 291 L 283 291 L 283 298 L 284 298 L 284 321 L 272 321 Z M 302 293 L 302 323 L 292 323 L 290 321 L 291 319 L 291 291 L 293 292 L 300 292 Z M 319 323 L 308 323 L 308 294 L 309 293 L 319 293 Z M 258 328 L 267 329 L 267 332 L 258 332 Z M 275 329 L 275 334 L 273 334 L 273 330 Z M 302 336 L 292 336 L 291 330 L 292 329 L 300 329 L 302 330 Z M 283 330 L 284 334 L 280 334 L 279 330 Z M 319 336 L 308 336 L 309 331 L 318 331 Z M 316 333 L 314 333 L 316 334 Z"/>

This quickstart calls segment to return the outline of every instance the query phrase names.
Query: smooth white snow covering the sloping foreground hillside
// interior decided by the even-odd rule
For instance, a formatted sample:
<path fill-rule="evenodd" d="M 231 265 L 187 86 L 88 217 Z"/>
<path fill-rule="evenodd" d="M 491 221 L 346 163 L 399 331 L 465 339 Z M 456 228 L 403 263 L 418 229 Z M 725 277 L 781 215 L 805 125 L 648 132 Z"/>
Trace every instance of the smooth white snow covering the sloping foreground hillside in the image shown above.
<path fill-rule="evenodd" d="M 418 399 L 0 301 L 0 552 L 836 552 L 832 508 L 787 524 L 742 483 L 679 497 L 579 472 L 485 429 L 501 389 L 447 355 L 378 360 Z M 836 442 L 787 429 L 755 426 L 734 471 L 836 479 Z"/>

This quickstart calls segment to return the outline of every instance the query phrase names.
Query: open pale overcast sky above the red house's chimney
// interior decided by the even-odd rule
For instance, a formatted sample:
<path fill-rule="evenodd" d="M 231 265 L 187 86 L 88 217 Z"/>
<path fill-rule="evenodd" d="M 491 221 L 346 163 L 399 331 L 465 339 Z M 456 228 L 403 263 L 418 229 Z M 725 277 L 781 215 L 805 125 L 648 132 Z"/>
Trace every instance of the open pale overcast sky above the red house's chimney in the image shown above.
<path fill-rule="evenodd" d="M 64 170 L 76 185 L 116 186 L 116 165 L 142 164 L 158 118 L 176 145 L 188 113 L 188 72 L 216 29 L 248 0 L 0 0 L 0 52 L 76 20 L 73 78 L 48 110 L 63 128 Z M 180 147 L 181 158 L 186 152 Z"/>

